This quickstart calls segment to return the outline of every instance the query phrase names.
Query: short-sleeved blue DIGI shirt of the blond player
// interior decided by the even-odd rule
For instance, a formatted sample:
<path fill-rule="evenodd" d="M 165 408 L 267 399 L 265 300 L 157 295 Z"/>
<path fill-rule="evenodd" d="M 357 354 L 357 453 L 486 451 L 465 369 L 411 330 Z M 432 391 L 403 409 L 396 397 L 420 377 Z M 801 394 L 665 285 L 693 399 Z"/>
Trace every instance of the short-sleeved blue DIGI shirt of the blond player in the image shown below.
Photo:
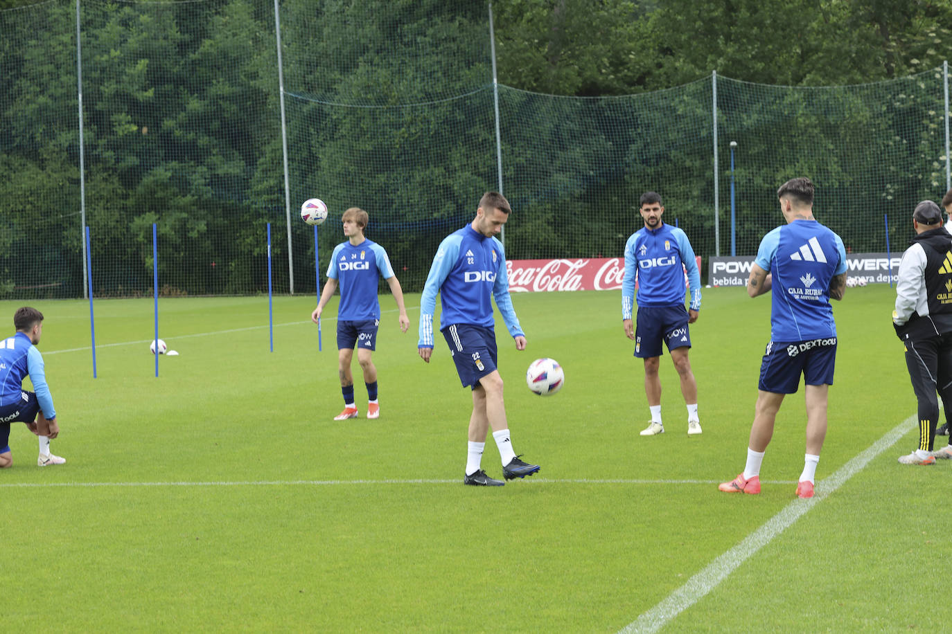
<path fill-rule="evenodd" d="M 327 265 L 327 277 L 341 287 L 337 318 L 341 321 L 367 321 L 380 318 L 377 299 L 378 278 L 393 277 L 387 251 L 381 245 L 364 240 L 354 246 L 350 240 L 334 247 Z"/>

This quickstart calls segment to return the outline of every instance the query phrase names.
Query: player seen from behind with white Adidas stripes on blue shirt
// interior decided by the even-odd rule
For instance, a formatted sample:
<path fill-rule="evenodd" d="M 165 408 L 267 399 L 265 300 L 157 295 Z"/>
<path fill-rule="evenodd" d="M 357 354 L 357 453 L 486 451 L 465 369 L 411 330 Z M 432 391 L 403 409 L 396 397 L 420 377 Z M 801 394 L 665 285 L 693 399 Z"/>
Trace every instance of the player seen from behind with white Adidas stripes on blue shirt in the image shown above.
<path fill-rule="evenodd" d="M 813 218 L 813 183 L 792 179 L 777 190 L 786 224 L 761 240 L 747 279 L 747 295 L 773 289 L 770 341 L 761 362 L 757 406 L 744 471 L 718 488 L 761 492 L 761 463 L 773 436 L 783 396 L 795 394 L 803 375 L 806 453 L 797 482 L 799 497 L 813 497 L 820 450 L 826 437 L 826 399 L 836 363 L 836 322 L 830 298 L 846 291 L 843 240 Z"/>

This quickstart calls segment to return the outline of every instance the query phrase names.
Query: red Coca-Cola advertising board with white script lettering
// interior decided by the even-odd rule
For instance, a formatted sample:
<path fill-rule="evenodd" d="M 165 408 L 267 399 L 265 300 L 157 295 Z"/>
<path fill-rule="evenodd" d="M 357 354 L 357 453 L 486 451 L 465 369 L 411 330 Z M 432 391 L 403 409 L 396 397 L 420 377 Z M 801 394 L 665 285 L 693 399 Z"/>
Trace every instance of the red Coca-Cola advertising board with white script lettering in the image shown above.
<path fill-rule="evenodd" d="M 698 258 L 698 268 L 701 258 Z M 507 259 L 509 290 L 610 291 L 622 288 L 622 258 Z M 686 278 L 685 278 L 686 279 Z"/>

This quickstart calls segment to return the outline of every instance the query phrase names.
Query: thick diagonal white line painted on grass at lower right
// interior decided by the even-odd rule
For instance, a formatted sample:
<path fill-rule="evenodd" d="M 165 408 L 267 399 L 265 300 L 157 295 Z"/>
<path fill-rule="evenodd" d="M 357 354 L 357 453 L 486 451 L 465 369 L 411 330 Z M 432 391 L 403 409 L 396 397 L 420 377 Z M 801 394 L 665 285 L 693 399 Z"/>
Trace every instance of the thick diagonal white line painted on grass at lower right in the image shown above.
<path fill-rule="evenodd" d="M 704 599 L 731 572 L 755 555 L 758 550 L 769 544 L 784 529 L 792 526 L 803 514 L 822 502 L 827 495 L 838 490 L 847 480 L 863 471 L 863 468 L 883 451 L 895 445 L 903 435 L 909 432 L 909 428 L 915 424 L 916 420 L 916 415 L 909 416 L 891 431 L 886 432 L 882 438 L 873 443 L 863 453 L 855 456 L 832 475 L 824 478 L 817 486 L 816 494 L 813 497 L 806 500 L 798 498 L 786 505 L 780 512 L 767 520 L 761 528 L 757 528 L 747 535 L 743 542 L 724 552 L 723 555 L 688 579 L 684 586 L 676 589 L 660 604 L 655 605 L 619 631 L 625 634 L 629 632 L 657 632 L 684 612 L 685 609 Z"/>

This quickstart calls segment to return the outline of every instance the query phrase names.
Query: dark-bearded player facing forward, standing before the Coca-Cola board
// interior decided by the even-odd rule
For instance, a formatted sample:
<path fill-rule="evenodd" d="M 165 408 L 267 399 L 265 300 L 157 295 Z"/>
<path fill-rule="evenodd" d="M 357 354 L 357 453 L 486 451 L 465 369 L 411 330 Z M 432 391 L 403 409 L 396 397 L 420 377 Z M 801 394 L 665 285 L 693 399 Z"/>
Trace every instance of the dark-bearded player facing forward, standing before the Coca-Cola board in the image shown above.
<path fill-rule="evenodd" d="M 664 433 L 661 417 L 662 341 L 681 379 L 681 394 L 687 406 L 687 432 L 701 433 L 698 418 L 698 382 L 687 356 L 691 334 L 687 324 L 698 320 L 701 311 L 701 276 L 694 249 L 684 231 L 662 221 L 661 196 L 653 191 L 641 198 L 645 227 L 625 242 L 625 279 L 622 282 L 622 325 L 625 336 L 635 341 L 635 356 L 645 359 L 645 395 L 651 420 L 643 436 Z M 684 272 L 691 287 L 691 304 L 684 309 Z M 638 314 L 631 323 L 638 281 Z"/>

